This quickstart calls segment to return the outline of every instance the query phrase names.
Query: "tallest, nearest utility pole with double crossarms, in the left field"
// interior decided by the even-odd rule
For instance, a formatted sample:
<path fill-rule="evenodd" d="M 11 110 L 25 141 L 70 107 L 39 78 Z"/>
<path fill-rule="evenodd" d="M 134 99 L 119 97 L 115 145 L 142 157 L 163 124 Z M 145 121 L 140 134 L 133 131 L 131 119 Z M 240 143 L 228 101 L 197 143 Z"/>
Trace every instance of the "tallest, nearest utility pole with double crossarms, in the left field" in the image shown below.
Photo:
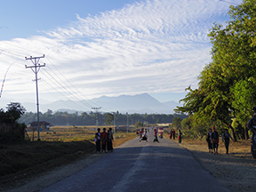
<path fill-rule="evenodd" d="M 36 81 L 36 106 L 37 106 L 37 135 L 38 135 L 38 140 L 40 140 L 40 126 L 39 126 L 39 101 L 38 101 L 37 73 L 39 72 L 41 67 L 45 67 L 45 63 L 44 63 L 44 65 L 40 65 L 40 63 L 39 63 L 39 60 L 41 58 L 44 58 L 44 55 L 42 57 L 32 57 L 32 56 L 30 56 L 30 58 L 25 57 L 25 60 L 31 60 L 32 63 L 34 64 L 34 66 L 25 65 L 25 68 L 31 68 L 32 71 L 36 74 L 36 79 L 34 81 Z"/>

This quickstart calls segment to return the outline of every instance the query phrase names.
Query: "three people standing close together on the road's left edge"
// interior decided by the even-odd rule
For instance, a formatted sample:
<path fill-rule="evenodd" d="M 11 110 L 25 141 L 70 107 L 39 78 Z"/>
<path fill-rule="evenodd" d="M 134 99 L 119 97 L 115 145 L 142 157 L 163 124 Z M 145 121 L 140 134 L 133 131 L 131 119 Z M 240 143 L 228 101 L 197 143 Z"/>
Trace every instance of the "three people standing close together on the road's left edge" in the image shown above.
<path fill-rule="evenodd" d="M 107 146 L 108 146 L 108 152 L 113 152 L 113 133 L 112 128 L 108 129 L 108 132 L 106 132 L 106 128 L 103 128 L 103 132 L 100 132 L 100 128 L 98 128 L 97 132 L 95 133 L 95 139 L 96 143 L 96 153 L 97 152 L 105 152 L 107 153 Z M 100 150 L 101 147 L 101 150 Z"/>

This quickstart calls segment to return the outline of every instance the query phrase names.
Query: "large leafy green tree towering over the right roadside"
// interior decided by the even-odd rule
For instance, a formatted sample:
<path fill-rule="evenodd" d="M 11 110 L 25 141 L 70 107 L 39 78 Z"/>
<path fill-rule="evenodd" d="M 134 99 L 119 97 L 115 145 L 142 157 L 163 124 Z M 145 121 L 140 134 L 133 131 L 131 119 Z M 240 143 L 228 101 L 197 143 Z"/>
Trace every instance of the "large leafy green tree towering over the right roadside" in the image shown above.
<path fill-rule="evenodd" d="M 198 89 L 188 87 L 176 111 L 193 115 L 196 122 L 218 122 L 236 140 L 232 118 L 245 124 L 255 105 L 256 2 L 232 5 L 228 14 L 225 26 L 214 24 L 210 31 L 212 62 L 198 76 Z"/>

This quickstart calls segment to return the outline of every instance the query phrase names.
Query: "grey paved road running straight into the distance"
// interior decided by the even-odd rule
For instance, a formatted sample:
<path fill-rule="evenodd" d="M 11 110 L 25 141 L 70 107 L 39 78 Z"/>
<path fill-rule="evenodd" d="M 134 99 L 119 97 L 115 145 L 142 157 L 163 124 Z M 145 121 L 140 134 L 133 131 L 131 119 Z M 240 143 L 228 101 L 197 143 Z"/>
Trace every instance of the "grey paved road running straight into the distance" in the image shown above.
<path fill-rule="evenodd" d="M 172 140 L 153 143 L 136 138 L 113 153 L 41 192 L 229 191 Z"/>

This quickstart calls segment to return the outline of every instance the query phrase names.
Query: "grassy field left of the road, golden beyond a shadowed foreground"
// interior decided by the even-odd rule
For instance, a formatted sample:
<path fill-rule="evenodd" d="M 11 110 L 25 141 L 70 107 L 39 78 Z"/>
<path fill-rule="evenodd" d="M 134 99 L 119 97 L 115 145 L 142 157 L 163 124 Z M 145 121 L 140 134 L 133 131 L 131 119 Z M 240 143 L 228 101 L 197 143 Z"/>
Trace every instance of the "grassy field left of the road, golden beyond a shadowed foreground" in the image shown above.
<path fill-rule="evenodd" d="M 0 190 L 14 182 L 91 156 L 95 153 L 94 129 L 95 126 L 56 126 L 48 132 L 40 132 L 41 141 L 1 145 Z M 31 139 L 32 132 L 28 132 L 28 136 Z M 36 132 L 34 136 L 37 140 Z M 114 148 L 134 137 L 132 132 L 116 132 Z"/>

